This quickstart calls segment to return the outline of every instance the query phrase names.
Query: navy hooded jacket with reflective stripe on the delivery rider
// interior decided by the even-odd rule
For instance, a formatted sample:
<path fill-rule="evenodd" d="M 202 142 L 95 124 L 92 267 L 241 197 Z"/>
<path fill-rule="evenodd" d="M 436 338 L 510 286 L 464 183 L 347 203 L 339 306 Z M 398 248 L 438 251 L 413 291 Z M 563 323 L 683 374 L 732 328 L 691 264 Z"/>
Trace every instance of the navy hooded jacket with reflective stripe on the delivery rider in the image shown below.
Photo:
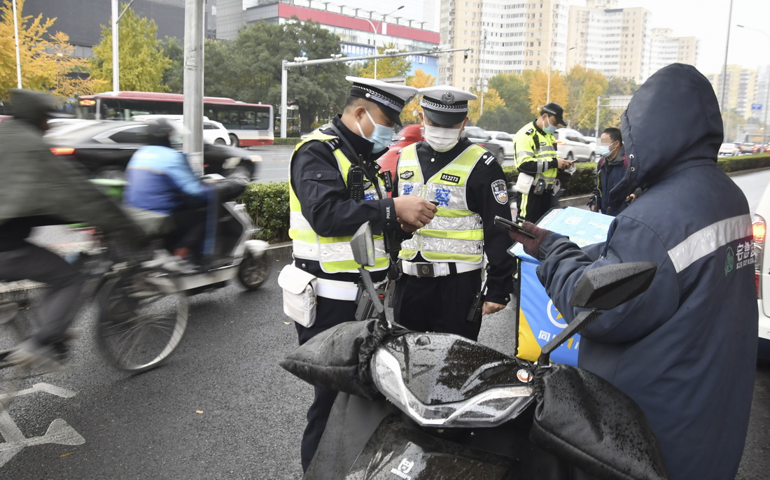
<path fill-rule="evenodd" d="M 713 88 L 691 65 L 661 68 L 622 118 L 628 170 L 612 199 L 646 189 L 581 250 L 552 235 L 538 276 L 571 322 L 583 273 L 656 262 L 644 294 L 581 332 L 578 365 L 644 410 L 670 478 L 735 478 L 752 405 L 757 302 L 752 224 L 741 190 L 716 165 L 722 122 Z"/>

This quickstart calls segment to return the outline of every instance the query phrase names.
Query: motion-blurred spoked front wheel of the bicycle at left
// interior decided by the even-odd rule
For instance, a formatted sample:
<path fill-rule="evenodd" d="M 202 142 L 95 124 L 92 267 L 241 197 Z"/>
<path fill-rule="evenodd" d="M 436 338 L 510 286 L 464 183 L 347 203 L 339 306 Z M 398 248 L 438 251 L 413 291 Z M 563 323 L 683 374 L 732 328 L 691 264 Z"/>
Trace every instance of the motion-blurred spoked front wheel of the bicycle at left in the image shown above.
<path fill-rule="evenodd" d="M 170 285 L 161 272 L 132 268 L 99 292 L 97 342 L 115 367 L 145 372 L 164 362 L 182 341 L 187 295 L 164 288 L 164 280 Z"/>

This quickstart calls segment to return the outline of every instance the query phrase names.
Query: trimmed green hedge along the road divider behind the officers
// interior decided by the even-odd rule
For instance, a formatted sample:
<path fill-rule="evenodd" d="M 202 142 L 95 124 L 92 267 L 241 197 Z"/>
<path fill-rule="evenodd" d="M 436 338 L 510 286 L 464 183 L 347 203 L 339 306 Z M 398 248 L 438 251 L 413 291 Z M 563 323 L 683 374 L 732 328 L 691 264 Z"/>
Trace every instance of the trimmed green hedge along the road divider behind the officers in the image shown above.
<path fill-rule="evenodd" d="M 288 140 L 288 138 L 286 138 Z M 575 164 L 577 171 L 569 179 L 564 197 L 588 195 L 594 190 L 596 164 L 583 162 Z M 754 168 L 770 168 L 770 154 L 743 155 L 738 157 L 720 157 L 717 165 L 725 172 L 739 172 Z M 511 166 L 503 167 L 507 182 L 515 183 L 517 170 Z M 267 242 L 287 242 L 289 240 L 289 183 L 253 183 L 240 196 L 239 202 L 246 204 L 246 212 L 251 215 L 262 230 L 256 238 Z"/>

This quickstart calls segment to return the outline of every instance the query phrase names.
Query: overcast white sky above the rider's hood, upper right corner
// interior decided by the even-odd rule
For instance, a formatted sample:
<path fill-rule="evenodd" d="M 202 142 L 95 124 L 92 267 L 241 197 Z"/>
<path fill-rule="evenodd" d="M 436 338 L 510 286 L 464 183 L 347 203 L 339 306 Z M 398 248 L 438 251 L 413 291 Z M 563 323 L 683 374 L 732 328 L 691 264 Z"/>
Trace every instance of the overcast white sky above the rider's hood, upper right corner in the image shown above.
<path fill-rule="evenodd" d="M 652 12 L 652 28 L 671 28 L 677 37 L 698 37 L 695 66 L 703 74 L 721 72 L 730 0 L 619 0 L 618 7 L 646 8 Z M 735 25 L 756 28 L 764 35 Z M 727 63 L 752 69 L 770 64 L 770 0 L 733 0 Z"/>

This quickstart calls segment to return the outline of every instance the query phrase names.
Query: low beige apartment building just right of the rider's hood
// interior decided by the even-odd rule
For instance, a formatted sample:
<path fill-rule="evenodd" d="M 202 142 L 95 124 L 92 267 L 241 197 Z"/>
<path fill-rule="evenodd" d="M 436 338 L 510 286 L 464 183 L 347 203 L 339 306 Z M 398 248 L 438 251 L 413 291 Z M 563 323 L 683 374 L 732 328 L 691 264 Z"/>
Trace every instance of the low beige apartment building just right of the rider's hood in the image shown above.
<path fill-rule="evenodd" d="M 756 115 L 752 103 L 756 103 L 757 72 L 741 65 L 727 65 L 726 72 L 706 75 L 714 87 L 721 111 L 733 111 L 742 118 Z M 766 91 L 765 91 L 766 92 Z M 764 104 L 764 101 L 758 102 Z"/>

